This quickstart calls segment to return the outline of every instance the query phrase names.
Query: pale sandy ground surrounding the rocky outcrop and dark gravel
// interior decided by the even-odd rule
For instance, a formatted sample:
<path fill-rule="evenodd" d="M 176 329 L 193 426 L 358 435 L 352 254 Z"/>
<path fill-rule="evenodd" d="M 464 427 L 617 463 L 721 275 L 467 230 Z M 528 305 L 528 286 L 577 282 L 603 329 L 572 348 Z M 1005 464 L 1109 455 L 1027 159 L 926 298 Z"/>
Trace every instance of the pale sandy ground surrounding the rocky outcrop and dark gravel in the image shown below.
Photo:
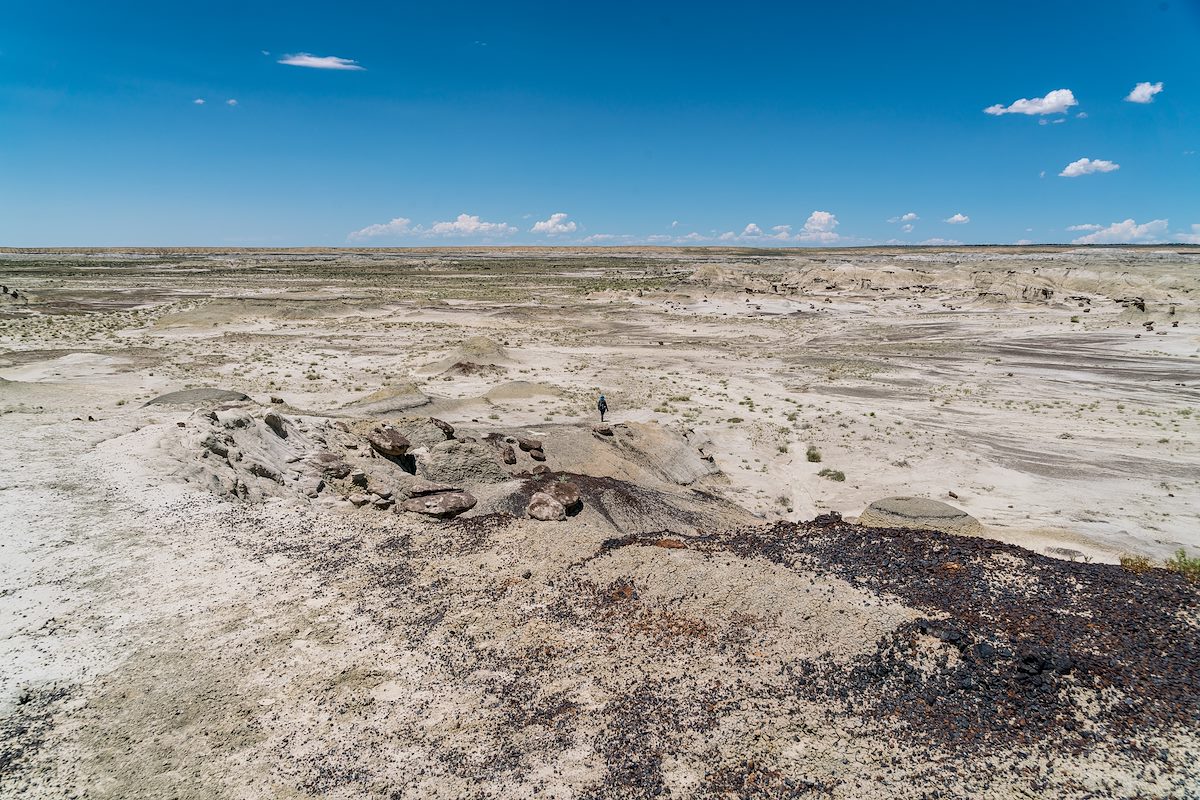
<path fill-rule="evenodd" d="M 698 796 L 742 770 L 734 796 L 922 796 L 934 770 L 949 796 L 1190 796 L 1180 732 L 1154 734 L 1178 759 L 1162 774 L 1026 748 L 946 783 L 953 748 L 880 745 L 812 698 L 714 721 L 689 705 L 703 681 L 848 664 L 924 609 L 752 555 L 596 559 L 613 533 L 587 515 L 481 533 L 230 503 L 184 480 L 192 409 L 144 403 L 218 386 L 316 423 L 406 386 L 460 431 L 544 437 L 554 469 L 670 488 L 653 452 L 568 452 L 604 392 L 611 421 L 686 434 L 715 465 L 696 486 L 763 524 L 911 494 L 1038 554 L 1163 559 L 1200 551 L 1198 267 L 1146 248 L 2 253 L 24 296 L 0 299 L 0 787 Z M 642 610 L 580 604 L 622 582 Z M 752 646 L 744 620 L 770 620 Z M 629 698 L 704 722 L 613 738 Z M 614 771 L 630 748 L 649 778 Z"/>

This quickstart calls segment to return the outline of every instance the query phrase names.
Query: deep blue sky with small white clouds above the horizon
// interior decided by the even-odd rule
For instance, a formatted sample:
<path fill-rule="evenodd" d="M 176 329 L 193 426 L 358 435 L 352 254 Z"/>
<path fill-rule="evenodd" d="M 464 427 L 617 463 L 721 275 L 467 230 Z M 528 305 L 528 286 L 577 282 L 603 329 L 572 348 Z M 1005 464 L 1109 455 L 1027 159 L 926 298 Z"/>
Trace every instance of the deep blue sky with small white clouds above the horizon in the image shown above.
<path fill-rule="evenodd" d="M 1198 151 L 1200 0 L 0 22 L 7 246 L 1200 242 Z"/>

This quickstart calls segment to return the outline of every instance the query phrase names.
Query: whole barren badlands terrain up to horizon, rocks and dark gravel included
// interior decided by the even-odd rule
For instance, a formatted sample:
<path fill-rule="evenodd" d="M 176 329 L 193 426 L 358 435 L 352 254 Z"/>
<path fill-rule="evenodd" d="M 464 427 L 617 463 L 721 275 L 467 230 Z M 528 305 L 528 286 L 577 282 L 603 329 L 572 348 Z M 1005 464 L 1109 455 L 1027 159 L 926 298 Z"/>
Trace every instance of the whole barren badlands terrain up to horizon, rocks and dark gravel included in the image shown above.
<path fill-rule="evenodd" d="M 5 798 L 1200 796 L 1200 248 L 0 283 Z"/>

